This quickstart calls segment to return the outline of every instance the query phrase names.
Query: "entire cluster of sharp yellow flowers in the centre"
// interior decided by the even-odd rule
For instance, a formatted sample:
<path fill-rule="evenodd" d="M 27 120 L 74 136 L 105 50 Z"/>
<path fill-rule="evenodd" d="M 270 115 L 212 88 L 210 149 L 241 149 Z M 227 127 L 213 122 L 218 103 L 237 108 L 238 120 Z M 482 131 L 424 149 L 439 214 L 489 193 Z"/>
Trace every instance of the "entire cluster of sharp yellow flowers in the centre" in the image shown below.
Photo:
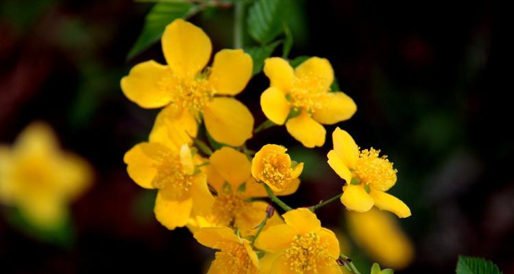
<path fill-rule="evenodd" d="M 315 210 L 340 197 L 355 214 L 376 206 L 400 218 L 411 215 L 402 201 L 386 193 L 396 182 L 393 163 L 380 150 L 360 149 L 339 127 L 332 134 L 328 164 L 344 180 L 342 194 L 310 208 L 286 205 L 279 197 L 297 190 L 304 163 L 291 160 L 281 145 L 258 151 L 246 147 L 258 131 L 234 95 L 252 77 L 250 55 L 223 49 L 206 67 L 210 39 L 182 19 L 166 27 L 162 51 L 167 65 L 143 62 L 121 79 L 131 101 L 143 108 L 164 107 L 148 142 L 127 151 L 124 161 L 136 184 L 158 190 L 154 211 L 162 225 L 188 227 L 201 245 L 219 250 L 209 273 L 356 272 Z M 283 58 L 268 58 L 264 73 L 270 86 L 260 96 L 262 112 L 305 147 L 321 147 L 323 125 L 356 112 L 350 97 L 331 90 L 334 71 L 326 59 L 309 58 L 293 68 Z M 198 134 L 202 124 L 206 134 Z M 221 147 L 212 151 L 199 136 Z M 273 204 L 285 213 L 273 214 Z"/>

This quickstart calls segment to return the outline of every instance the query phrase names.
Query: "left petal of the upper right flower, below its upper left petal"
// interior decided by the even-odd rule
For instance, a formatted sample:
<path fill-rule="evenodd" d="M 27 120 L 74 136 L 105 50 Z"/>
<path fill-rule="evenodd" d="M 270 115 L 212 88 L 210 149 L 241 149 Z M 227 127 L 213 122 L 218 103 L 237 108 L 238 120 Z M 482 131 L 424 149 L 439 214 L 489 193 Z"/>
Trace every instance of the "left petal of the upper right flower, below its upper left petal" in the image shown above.
<path fill-rule="evenodd" d="M 260 107 L 269 121 L 277 125 L 284 125 L 291 105 L 284 92 L 278 88 L 270 87 L 260 95 Z"/>

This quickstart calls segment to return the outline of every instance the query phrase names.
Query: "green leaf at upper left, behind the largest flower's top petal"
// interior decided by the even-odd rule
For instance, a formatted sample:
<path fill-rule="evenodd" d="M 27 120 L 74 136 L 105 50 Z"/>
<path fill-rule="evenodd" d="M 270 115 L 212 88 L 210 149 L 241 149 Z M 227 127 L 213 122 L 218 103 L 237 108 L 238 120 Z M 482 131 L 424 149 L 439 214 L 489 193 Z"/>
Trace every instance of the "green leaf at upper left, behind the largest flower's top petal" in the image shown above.
<path fill-rule="evenodd" d="M 171 2 L 171 1 L 169 1 Z M 199 5 L 192 3 L 156 3 L 154 8 L 151 8 L 145 19 L 145 25 L 143 31 L 139 35 L 138 39 L 130 52 L 127 55 L 127 59 L 134 58 L 154 42 L 160 39 L 166 26 L 173 22 L 177 18 L 188 18 L 193 16 L 200 10 Z"/>

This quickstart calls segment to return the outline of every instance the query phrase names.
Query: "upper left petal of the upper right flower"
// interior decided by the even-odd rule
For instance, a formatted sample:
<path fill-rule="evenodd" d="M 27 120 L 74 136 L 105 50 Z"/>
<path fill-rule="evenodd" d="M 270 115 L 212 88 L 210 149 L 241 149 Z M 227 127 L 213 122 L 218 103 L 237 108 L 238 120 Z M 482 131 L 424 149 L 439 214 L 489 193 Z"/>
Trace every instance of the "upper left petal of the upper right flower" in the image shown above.
<path fill-rule="evenodd" d="M 267 58 L 264 62 L 263 71 L 269 78 L 270 86 L 278 88 L 283 92 L 291 90 L 293 79 L 295 79 L 295 72 L 291 65 L 289 65 L 289 62 L 278 57 Z"/>

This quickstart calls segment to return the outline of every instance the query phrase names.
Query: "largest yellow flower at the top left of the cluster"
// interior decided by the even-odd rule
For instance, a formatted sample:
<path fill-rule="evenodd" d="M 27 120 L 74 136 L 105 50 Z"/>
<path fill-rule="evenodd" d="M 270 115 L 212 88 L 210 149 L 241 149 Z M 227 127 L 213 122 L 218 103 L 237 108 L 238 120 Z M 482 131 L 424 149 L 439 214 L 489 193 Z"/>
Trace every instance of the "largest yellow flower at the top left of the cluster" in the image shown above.
<path fill-rule="evenodd" d="M 164 116 L 173 123 L 186 123 L 196 136 L 203 119 L 215 140 L 239 146 L 252 137 L 254 118 L 243 103 L 232 96 L 241 92 L 252 77 L 252 58 L 241 49 L 216 53 L 212 68 L 212 45 L 202 29 L 182 19 L 173 21 L 162 34 L 162 52 L 167 66 L 154 60 L 137 64 L 121 79 L 125 96 L 142 108 L 167 108 Z M 219 97 L 228 95 L 229 97 Z M 173 126 L 173 125 L 171 125 Z"/>

